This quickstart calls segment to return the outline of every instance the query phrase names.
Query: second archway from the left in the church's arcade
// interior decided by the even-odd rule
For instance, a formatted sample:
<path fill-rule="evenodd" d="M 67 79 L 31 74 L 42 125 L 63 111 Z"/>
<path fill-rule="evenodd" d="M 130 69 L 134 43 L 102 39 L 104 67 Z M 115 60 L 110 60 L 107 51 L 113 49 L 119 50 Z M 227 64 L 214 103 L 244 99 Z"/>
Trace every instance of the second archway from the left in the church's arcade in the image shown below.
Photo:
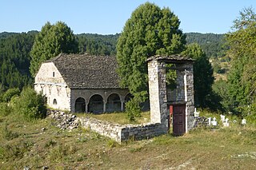
<path fill-rule="evenodd" d="M 103 97 L 99 94 L 94 94 L 90 97 L 88 105 L 89 113 L 103 113 L 104 112 L 104 102 Z"/>

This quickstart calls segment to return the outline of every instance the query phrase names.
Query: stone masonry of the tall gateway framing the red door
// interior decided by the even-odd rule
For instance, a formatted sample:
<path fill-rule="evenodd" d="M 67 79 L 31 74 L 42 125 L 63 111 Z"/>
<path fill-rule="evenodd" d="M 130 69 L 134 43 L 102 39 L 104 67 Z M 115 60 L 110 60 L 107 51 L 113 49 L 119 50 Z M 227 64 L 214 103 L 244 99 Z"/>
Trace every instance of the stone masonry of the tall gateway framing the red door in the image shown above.
<path fill-rule="evenodd" d="M 193 63 L 177 62 L 177 87 L 173 91 L 166 89 L 166 61 L 152 60 L 148 62 L 149 89 L 150 89 L 150 119 L 152 123 L 167 125 L 168 109 L 170 105 L 186 104 L 186 132 L 194 125 L 194 80 Z M 170 61 L 172 63 L 172 61 Z M 172 63 L 174 64 L 174 63 Z M 167 130 L 167 129 L 166 129 Z"/>

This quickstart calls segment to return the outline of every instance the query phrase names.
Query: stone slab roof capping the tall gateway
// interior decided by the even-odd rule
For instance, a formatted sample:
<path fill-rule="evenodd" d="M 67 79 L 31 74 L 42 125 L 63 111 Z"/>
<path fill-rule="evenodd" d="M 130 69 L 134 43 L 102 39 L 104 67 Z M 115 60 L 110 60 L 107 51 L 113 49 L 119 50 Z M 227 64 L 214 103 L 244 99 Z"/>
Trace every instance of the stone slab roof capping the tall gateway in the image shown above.
<path fill-rule="evenodd" d="M 147 58 L 146 61 L 166 61 L 170 63 L 186 63 L 186 62 L 193 62 L 194 59 L 190 57 L 182 56 L 181 54 L 174 54 L 170 56 L 155 55 L 153 57 Z"/>

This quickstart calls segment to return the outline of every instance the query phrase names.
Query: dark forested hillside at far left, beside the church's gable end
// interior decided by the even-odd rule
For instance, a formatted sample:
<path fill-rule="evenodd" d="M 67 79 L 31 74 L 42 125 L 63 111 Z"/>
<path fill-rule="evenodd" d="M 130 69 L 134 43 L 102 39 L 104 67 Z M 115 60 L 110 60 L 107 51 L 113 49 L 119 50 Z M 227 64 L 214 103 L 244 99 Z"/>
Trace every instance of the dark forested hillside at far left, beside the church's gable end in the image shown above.
<path fill-rule="evenodd" d="M 1 89 L 18 87 L 32 83 L 30 77 L 30 49 L 37 32 L 22 34 L 0 34 L 0 85 Z"/>

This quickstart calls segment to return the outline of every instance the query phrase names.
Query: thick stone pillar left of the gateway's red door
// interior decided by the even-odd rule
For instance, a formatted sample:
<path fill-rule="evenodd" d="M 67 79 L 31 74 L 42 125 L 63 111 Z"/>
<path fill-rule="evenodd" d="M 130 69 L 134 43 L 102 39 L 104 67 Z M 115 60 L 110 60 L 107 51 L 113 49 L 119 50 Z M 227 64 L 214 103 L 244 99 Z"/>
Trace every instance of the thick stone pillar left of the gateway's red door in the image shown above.
<path fill-rule="evenodd" d="M 151 123 L 167 124 L 166 65 L 163 61 L 148 62 Z"/>

